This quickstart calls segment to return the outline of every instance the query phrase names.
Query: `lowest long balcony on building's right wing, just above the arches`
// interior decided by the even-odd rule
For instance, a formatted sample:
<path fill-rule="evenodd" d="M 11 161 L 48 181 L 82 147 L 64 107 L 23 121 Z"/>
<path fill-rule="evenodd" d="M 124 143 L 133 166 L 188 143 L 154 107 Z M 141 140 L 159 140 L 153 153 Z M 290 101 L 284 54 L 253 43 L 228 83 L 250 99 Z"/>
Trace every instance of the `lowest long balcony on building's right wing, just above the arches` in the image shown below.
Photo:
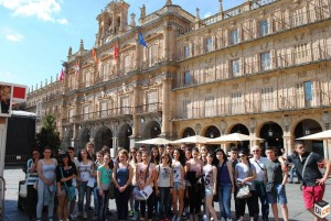
<path fill-rule="evenodd" d="M 275 92 L 276 93 L 276 92 Z M 249 97 L 248 95 L 243 95 Z M 222 100 L 231 100 L 231 98 L 222 98 Z M 303 109 L 330 108 L 331 91 L 319 91 L 312 96 L 312 99 L 306 99 L 305 95 L 279 96 L 270 99 L 254 99 L 242 102 L 222 102 L 217 106 L 195 108 L 188 107 L 185 111 L 178 110 L 177 119 L 203 119 L 215 117 L 229 117 L 239 114 L 256 114 L 277 111 L 296 111 Z"/>

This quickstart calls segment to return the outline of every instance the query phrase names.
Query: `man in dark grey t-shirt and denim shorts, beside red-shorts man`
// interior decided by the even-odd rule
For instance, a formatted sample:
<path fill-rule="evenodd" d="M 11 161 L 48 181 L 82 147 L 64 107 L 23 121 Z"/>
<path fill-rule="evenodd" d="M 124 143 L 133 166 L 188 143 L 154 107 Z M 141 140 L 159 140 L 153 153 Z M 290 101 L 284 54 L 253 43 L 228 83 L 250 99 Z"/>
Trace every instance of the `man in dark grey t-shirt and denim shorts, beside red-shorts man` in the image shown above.
<path fill-rule="evenodd" d="M 275 148 L 268 147 L 266 150 L 266 155 L 269 159 L 265 162 L 267 170 L 267 183 L 274 184 L 274 190 L 271 192 L 267 192 L 268 202 L 271 205 L 274 218 L 276 221 L 279 220 L 277 202 L 281 207 L 282 219 L 285 221 L 288 221 L 287 197 L 285 191 L 285 185 L 287 183 L 288 174 L 287 172 L 282 173 L 280 162 L 276 157 Z"/>

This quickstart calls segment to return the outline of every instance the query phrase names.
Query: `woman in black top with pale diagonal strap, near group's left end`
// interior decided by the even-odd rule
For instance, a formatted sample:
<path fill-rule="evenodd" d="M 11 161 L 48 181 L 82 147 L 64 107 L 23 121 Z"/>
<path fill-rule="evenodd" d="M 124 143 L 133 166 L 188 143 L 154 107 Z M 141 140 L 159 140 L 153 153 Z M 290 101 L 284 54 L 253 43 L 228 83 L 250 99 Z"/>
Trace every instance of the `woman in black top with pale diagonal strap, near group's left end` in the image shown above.
<path fill-rule="evenodd" d="M 73 165 L 67 153 L 58 156 L 58 165 L 56 166 L 56 185 L 57 185 L 57 219 L 58 221 L 68 218 L 68 196 L 66 189 L 73 185 L 76 177 L 76 166 Z M 62 219 L 63 218 L 63 219 Z"/>

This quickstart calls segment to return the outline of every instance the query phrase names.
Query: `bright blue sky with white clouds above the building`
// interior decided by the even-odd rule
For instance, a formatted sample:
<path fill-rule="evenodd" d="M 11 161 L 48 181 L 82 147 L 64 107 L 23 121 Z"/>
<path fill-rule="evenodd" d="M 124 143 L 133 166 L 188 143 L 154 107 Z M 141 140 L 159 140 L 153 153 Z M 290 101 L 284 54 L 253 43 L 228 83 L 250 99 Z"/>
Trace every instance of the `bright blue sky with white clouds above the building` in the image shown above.
<path fill-rule="evenodd" d="M 224 10 L 245 0 L 223 0 Z M 35 89 L 60 75 L 68 47 L 73 53 L 95 43 L 96 16 L 110 0 L 0 0 L 0 81 Z M 161 9 L 166 0 L 126 0 L 129 14 L 146 4 L 147 14 Z M 218 0 L 172 0 L 173 4 L 195 15 L 207 18 L 218 11 Z M 129 18 L 128 18 L 129 21 Z"/>

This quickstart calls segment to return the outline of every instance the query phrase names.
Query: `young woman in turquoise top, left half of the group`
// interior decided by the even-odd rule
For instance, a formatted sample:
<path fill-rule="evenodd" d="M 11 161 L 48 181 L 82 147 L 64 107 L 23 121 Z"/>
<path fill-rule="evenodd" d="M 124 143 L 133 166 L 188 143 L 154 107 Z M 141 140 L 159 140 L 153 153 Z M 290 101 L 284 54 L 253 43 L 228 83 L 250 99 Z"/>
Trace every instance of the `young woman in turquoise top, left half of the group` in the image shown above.
<path fill-rule="evenodd" d="M 108 195 L 111 178 L 111 169 L 109 168 L 110 155 L 104 154 L 103 164 L 97 168 L 97 197 L 98 197 L 98 221 L 106 220 L 106 211 L 108 206 Z"/>

